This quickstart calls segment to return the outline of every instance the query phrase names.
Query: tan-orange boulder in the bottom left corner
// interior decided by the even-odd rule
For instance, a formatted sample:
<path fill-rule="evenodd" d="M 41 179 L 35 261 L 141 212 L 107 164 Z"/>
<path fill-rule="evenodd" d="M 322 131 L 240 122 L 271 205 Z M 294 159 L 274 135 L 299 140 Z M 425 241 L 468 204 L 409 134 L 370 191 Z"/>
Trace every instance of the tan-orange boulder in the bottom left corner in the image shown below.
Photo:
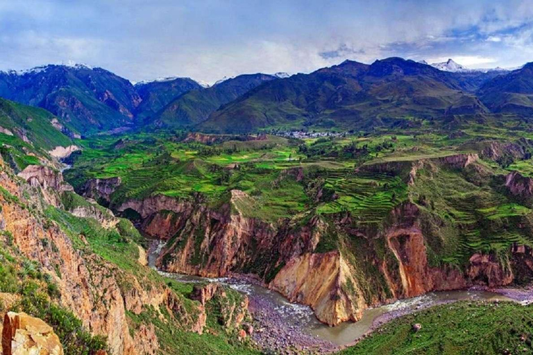
<path fill-rule="evenodd" d="M 26 313 L 8 312 L 3 318 L 3 355 L 63 355 L 52 327 Z"/>

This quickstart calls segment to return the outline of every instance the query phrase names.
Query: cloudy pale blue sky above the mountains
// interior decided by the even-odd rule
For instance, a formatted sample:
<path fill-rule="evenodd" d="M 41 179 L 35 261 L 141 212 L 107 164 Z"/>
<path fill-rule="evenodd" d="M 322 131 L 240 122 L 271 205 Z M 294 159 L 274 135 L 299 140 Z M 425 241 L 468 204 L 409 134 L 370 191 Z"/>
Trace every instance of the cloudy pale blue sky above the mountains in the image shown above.
<path fill-rule="evenodd" d="M 213 83 L 391 56 L 532 62 L 533 0 L 0 0 L 0 70 L 78 62 Z"/>

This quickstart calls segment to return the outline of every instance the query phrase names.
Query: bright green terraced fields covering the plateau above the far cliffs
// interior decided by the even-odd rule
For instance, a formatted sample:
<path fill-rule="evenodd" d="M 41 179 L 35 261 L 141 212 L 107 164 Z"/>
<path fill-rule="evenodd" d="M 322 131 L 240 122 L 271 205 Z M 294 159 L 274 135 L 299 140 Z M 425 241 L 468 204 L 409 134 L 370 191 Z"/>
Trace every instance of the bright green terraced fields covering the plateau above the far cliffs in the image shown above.
<path fill-rule="evenodd" d="M 482 155 L 476 149 L 484 139 L 514 141 L 514 132 L 505 129 L 473 125 L 457 137 L 431 129 L 310 139 L 268 136 L 261 141 L 222 137 L 213 144 L 183 137 L 132 134 L 79 141 L 83 153 L 66 178 L 79 187 L 90 178 L 121 177 L 112 204 L 164 194 L 182 199 L 200 195 L 219 205 L 237 189 L 247 197 L 235 202 L 235 213 L 271 223 L 348 213 L 360 227 L 380 228 L 391 209 L 410 201 L 421 209 L 437 263 L 461 266 L 475 252 L 502 253 L 512 243 L 533 245 L 530 230 L 523 227 L 531 223 L 532 206 L 502 187 L 509 171 L 533 171 L 532 159 L 514 158 L 504 166 L 482 156 L 475 168 L 464 169 L 436 159 Z M 533 144 L 524 149 L 533 150 Z M 380 164 L 391 162 L 398 162 L 398 171 L 380 172 Z M 419 162 L 423 167 L 414 184 L 407 185 L 410 164 Z"/>

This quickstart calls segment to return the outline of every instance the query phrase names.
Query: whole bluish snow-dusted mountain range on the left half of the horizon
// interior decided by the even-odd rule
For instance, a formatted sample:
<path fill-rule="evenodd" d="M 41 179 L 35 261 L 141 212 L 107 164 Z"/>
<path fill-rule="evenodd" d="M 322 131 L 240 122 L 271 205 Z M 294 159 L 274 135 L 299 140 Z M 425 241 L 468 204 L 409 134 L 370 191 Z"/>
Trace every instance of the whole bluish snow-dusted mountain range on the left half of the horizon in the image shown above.
<path fill-rule="evenodd" d="M 264 81 L 288 76 L 242 75 L 213 87 L 191 78 L 160 78 L 132 85 L 105 69 L 51 64 L 0 71 L 0 97 L 49 110 L 74 137 L 78 132 L 93 135 L 138 128 L 146 122 L 172 128 L 192 125 Z"/>

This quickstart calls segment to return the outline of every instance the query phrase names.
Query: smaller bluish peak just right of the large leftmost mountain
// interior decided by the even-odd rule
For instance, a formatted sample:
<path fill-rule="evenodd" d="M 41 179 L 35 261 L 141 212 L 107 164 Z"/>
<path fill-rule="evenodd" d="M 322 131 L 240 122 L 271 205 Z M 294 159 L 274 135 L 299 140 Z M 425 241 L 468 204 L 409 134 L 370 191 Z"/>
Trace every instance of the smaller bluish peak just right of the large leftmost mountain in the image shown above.
<path fill-rule="evenodd" d="M 191 78 L 164 78 L 135 84 L 141 103 L 137 106 L 137 118 L 144 120 L 153 116 L 178 96 L 203 86 Z"/>

